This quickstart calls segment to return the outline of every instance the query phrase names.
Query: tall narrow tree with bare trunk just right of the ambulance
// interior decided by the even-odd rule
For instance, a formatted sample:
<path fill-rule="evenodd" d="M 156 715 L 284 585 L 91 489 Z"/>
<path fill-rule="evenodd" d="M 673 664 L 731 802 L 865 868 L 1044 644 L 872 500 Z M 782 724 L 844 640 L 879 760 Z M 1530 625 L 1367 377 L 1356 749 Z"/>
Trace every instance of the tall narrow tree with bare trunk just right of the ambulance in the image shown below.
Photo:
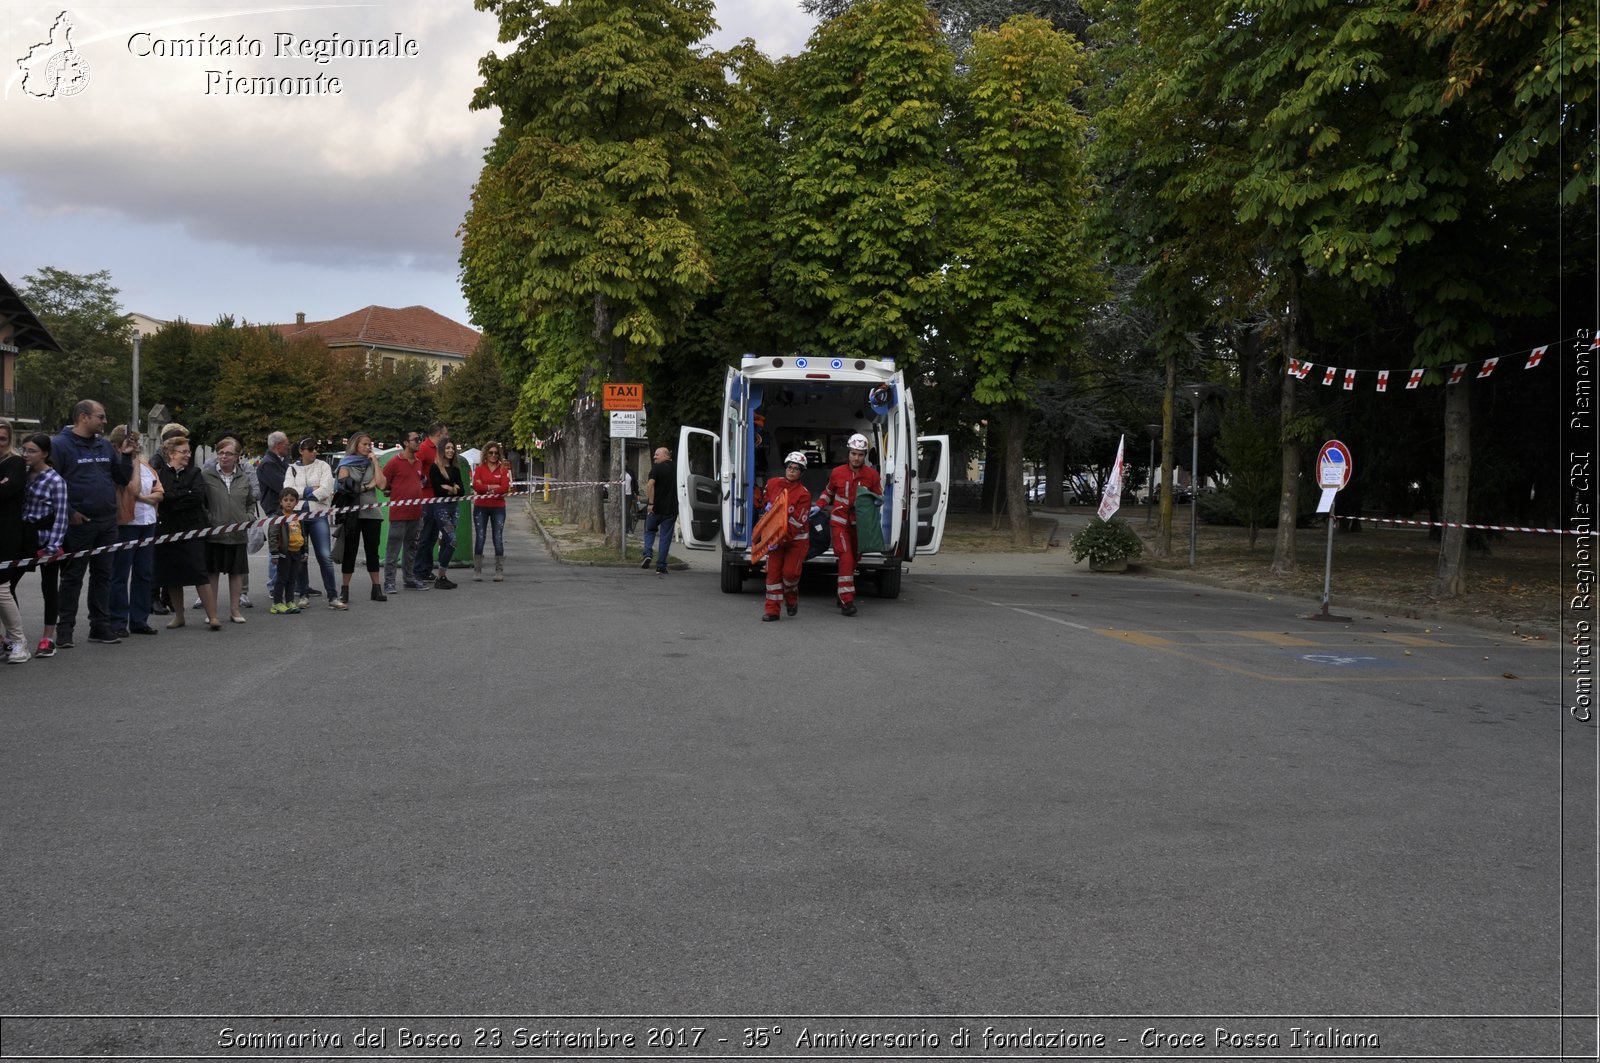
<path fill-rule="evenodd" d="M 970 61 L 952 131 L 949 328 L 974 367 L 973 399 L 1006 423 L 1006 511 L 1026 546 L 1030 395 L 1102 290 L 1083 229 L 1088 120 L 1072 104 L 1083 58 L 1045 19 L 1018 16 L 979 30 Z"/>

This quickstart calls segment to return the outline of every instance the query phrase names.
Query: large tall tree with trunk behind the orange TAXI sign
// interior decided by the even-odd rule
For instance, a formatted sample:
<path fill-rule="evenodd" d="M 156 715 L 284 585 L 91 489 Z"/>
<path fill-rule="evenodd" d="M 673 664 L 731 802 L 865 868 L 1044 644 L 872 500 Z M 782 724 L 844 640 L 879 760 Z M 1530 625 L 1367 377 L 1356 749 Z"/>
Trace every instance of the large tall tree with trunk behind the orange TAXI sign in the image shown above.
<path fill-rule="evenodd" d="M 698 42 L 712 6 L 477 0 L 517 46 L 478 64 L 472 106 L 499 109 L 501 130 L 462 224 L 462 287 L 474 320 L 533 375 L 547 373 L 552 336 L 563 355 L 581 339 L 576 378 L 562 359 L 533 387 L 546 415 L 603 381 L 637 379 L 710 287 L 702 215 L 722 181 L 725 80 Z M 579 403 L 566 418 L 586 479 L 602 474 L 598 413 Z M 554 427 L 546 415 L 518 413 L 518 424 Z M 574 503 L 581 527 L 602 527 L 598 498 Z"/>

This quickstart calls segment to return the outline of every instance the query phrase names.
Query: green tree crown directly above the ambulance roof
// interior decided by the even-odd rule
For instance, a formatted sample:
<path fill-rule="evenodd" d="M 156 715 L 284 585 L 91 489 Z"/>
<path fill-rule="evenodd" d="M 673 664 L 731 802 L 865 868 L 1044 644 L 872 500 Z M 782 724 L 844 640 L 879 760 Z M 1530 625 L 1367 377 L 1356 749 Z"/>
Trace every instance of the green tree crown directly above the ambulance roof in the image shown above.
<path fill-rule="evenodd" d="M 810 317 L 794 347 L 917 359 L 944 264 L 954 67 L 922 0 L 856 5 L 790 61 L 774 282 Z"/>

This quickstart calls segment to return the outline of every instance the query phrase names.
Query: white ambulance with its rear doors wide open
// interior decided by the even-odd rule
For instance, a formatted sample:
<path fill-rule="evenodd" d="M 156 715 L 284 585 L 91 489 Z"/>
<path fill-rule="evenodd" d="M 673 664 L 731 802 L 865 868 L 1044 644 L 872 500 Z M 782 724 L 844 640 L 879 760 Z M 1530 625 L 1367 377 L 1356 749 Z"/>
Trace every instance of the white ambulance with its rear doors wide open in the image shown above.
<path fill-rule="evenodd" d="M 906 376 L 891 359 L 762 357 L 728 367 L 718 431 L 678 434 L 678 535 L 683 546 L 722 552 L 722 589 L 738 594 L 760 573 L 750 532 L 760 519 L 757 491 L 781 475 L 784 456 L 806 456 L 805 485 L 816 498 L 848 440 L 872 442 L 867 464 L 883 477 L 882 554 L 859 559 L 858 583 L 899 597 L 901 573 L 918 554 L 938 554 L 950 501 L 949 435 L 917 435 Z M 834 551 L 806 568 L 837 570 Z"/>

